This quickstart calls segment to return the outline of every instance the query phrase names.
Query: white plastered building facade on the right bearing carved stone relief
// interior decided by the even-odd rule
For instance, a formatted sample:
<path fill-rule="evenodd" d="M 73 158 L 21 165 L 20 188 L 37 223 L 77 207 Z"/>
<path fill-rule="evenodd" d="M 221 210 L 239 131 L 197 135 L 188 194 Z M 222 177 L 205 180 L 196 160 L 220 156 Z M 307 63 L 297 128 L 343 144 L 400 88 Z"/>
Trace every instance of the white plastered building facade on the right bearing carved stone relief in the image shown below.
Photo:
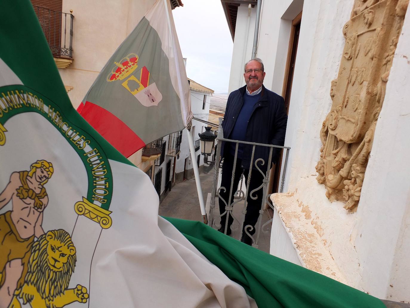
<path fill-rule="evenodd" d="M 256 1 L 222 1 L 222 4 L 234 38 L 229 83 L 229 92 L 232 92 L 244 85 L 243 68 L 252 53 Z M 263 60 L 266 72 L 264 85 L 288 101 L 285 146 L 292 148 L 285 193 L 272 195 L 275 209 L 271 254 L 375 297 L 403 302 L 410 302 L 407 261 L 410 139 L 405 136 L 410 129 L 410 110 L 406 103 L 410 89 L 407 5 L 408 1 L 404 0 L 264 0 L 257 45 L 257 57 Z M 358 29 L 357 40 L 351 39 L 351 27 Z M 377 37 L 388 35 L 389 31 L 392 33 L 389 39 Z M 360 35 L 370 35 L 366 33 L 376 35 L 360 41 Z M 296 52 L 292 52 L 295 40 Z M 372 55 L 374 50 L 376 56 Z M 373 60 L 383 58 L 384 61 L 367 64 L 361 57 L 368 54 Z M 346 66 L 346 61 L 352 60 L 360 66 Z M 381 67 L 380 75 L 365 73 L 377 65 Z M 349 72 L 346 77 L 344 69 Z M 373 76 L 378 79 L 371 88 Z M 346 83 L 345 91 L 340 90 L 341 80 Z M 326 152 L 327 146 L 322 140 L 321 132 L 327 133 L 323 127 L 333 131 L 335 126 L 345 125 L 345 131 L 352 131 L 343 124 L 343 119 L 348 118 L 342 116 L 343 109 L 333 111 L 333 103 L 342 95 L 342 108 L 350 108 L 345 107 L 348 106 L 346 97 L 351 98 L 349 89 L 359 84 L 367 90 L 359 92 L 358 88 L 357 99 L 350 103 L 360 108 L 374 108 L 375 105 L 360 105 L 370 99 L 379 107 L 372 120 L 373 131 L 367 130 L 367 136 L 369 131 L 372 134 L 372 138 L 368 138 L 370 144 L 362 143 L 371 148 L 371 152 L 363 156 L 362 184 L 357 186 L 355 194 L 346 196 L 356 198 L 356 204 L 345 209 L 348 202 L 335 195 L 342 193 L 342 189 L 350 193 L 346 186 L 353 185 L 352 180 L 358 176 L 347 174 L 350 182 L 345 182 L 345 187 L 330 189 L 328 181 L 335 175 L 325 172 L 326 178 L 321 179 L 325 184 L 320 183 L 317 177 L 323 173 L 317 166 L 322 160 L 321 147 Z M 356 124 L 370 125 L 364 122 L 366 120 L 359 120 Z M 339 135 L 337 142 L 341 140 L 343 137 Z M 345 166 L 356 159 L 356 147 L 351 144 L 343 161 Z M 334 152 L 335 157 L 339 157 L 339 150 Z"/>

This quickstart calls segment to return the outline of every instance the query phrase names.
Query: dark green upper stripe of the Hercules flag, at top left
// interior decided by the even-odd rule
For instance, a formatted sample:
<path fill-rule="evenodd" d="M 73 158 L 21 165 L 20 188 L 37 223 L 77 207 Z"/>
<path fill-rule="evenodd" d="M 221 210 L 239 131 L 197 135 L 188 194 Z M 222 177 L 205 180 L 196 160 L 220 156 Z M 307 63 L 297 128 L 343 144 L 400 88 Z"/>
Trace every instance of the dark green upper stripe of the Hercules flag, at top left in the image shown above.
<path fill-rule="evenodd" d="M 31 2 L 28 0 L 2 1 L 0 8 L 2 12 L 0 58 L 25 86 L 47 97 L 71 122 L 75 122 L 78 127 L 89 132 L 92 138 L 105 149 L 105 154 L 109 159 L 132 165 L 128 159 L 109 145 L 71 105 Z"/>

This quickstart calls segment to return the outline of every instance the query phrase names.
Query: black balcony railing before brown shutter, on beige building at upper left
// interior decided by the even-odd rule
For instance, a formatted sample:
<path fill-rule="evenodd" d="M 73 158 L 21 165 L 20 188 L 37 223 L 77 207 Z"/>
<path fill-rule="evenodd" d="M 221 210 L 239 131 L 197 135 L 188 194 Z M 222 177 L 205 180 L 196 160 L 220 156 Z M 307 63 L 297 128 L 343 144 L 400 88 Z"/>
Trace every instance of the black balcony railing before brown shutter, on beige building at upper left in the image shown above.
<path fill-rule="evenodd" d="M 73 59 L 73 20 L 71 13 L 34 6 L 51 53 L 57 58 Z"/>

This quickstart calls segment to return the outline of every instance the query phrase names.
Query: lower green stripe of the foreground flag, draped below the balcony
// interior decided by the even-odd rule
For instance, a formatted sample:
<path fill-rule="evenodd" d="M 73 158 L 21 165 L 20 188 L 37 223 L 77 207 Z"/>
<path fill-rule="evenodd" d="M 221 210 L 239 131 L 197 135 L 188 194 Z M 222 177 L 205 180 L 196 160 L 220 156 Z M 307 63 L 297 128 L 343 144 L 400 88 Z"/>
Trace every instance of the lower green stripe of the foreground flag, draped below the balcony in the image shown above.
<path fill-rule="evenodd" d="M 385 308 L 380 299 L 248 246 L 199 221 L 166 218 L 259 308 Z"/>

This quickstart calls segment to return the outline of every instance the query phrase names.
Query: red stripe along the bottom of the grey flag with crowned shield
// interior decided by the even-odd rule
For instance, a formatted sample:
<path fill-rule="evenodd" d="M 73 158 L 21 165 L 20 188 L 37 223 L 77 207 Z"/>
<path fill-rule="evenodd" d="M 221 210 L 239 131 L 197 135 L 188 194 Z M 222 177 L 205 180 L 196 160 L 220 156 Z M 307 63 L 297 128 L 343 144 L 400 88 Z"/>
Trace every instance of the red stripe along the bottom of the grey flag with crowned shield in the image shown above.
<path fill-rule="evenodd" d="M 81 103 L 78 106 L 77 111 L 125 157 L 130 157 L 139 149 L 145 147 L 144 141 L 108 110 L 86 101 L 85 104 Z"/>

